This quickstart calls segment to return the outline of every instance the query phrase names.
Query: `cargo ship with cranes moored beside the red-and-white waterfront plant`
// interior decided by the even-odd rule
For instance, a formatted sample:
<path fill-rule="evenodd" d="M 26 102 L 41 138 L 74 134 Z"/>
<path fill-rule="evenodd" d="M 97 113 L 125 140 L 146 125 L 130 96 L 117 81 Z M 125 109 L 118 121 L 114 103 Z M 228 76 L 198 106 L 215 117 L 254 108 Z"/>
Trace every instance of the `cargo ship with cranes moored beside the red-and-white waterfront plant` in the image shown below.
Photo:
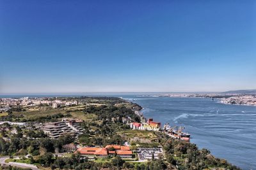
<path fill-rule="evenodd" d="M 170 127 L 170 124 L 164 124 L 164 132 L 174 138 L 174 139 L 180 139 L 182 141 L 189 141 L 190 140 L 190 134 L 186 132 L 182 132 L 185 127 Z"/>

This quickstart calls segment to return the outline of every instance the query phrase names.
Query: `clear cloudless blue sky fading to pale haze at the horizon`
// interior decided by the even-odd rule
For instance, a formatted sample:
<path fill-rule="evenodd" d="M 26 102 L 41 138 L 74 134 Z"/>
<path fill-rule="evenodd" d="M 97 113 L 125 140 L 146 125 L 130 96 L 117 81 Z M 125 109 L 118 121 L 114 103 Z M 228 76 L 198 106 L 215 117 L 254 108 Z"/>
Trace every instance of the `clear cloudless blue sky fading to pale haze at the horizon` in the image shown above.
<path fill-rule="evenodd" d="M 256 89 L 256 1 L 0 1 L 0 93 Z"/>

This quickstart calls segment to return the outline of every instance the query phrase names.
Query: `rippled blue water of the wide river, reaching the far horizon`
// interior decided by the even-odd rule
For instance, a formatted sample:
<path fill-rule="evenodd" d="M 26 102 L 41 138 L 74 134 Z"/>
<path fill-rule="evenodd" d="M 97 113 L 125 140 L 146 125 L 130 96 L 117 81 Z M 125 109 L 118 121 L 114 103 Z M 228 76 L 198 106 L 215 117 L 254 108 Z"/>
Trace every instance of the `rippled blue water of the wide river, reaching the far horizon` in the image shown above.
<path fill-rule="evenodd" d="M 151 97 L 147 94 L 19 94 L 0 97 L 114 96 L 143 107 L 145 117 L 182 125 L 191 143 L 242 169 L 256 169 L 256 107 L 222 104 L 208 98 Z"/>

